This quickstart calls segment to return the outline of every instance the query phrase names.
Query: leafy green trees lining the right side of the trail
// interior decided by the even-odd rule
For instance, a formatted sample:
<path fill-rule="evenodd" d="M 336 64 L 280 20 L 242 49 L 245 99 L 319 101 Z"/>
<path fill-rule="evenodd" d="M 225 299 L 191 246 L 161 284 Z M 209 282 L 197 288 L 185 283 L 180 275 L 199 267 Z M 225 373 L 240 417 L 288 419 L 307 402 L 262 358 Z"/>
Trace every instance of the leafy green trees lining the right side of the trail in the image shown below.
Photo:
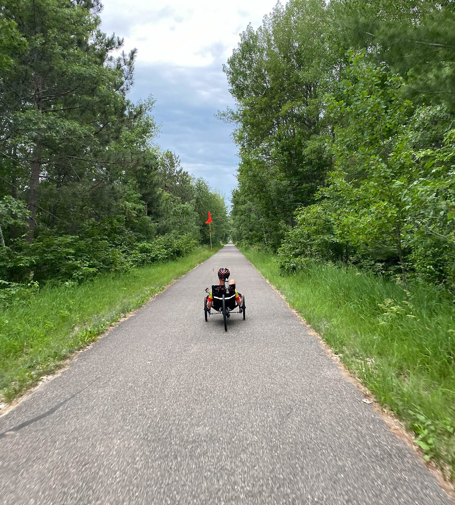
<path fill-rule="evenodd" d="M 224 72 L 235 240 L 455 293 L 455 2 L 290 0 Z"/>

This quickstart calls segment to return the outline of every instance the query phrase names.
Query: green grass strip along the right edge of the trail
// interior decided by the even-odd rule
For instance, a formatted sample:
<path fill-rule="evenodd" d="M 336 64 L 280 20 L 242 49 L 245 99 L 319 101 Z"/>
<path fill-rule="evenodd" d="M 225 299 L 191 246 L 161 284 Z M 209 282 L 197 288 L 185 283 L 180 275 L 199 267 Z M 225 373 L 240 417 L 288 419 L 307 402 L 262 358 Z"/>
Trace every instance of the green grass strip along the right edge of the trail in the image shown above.
<path fill-rule="evenodd" d="M 455 477 L 455 307 L 432 286 L 410 291 L 330 265 L 280 275 L 264 252 L 243 254 L 416 434 L 425 459 Z"/>

